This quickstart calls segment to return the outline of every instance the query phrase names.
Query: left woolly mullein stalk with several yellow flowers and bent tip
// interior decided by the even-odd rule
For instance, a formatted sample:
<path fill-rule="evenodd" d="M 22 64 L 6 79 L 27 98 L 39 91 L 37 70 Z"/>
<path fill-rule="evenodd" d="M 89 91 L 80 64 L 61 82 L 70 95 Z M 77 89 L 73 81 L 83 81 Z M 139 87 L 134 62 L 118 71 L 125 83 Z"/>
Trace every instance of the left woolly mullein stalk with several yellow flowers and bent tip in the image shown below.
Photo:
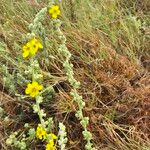
<path fill-rule="evenodd" d="M 36 54 L 43 49 L 44 43 L 44 28 L 42 27 L 41 21 L 45 18 L 47 13 L 47 8 L 43 8 L 35 17 L 33 24 L 30 24 L 29 28 L 31 33 L 27 35 L 29 39 L 24 46 L 22 47 L 22 57 L 24 59 L 29 59 L 29 66 L 25 70 L 25 74 L 28 76 L 31 75 L 31 82 L 27 84 L 25 89 L 25 94 L 29 95 L 32 99 L 35 99 L 33 104 L 33 110 L 38 114 L 40 123 L 37 126 L 37 129 L 30 128 L 28 136 L 23 134 L 21 140 L 17 139 L 18 132 L 12 133 L 7 139 L 6 143 L 8 145 L 14 146 L 16 148 L 26 150 L 27 141 L 33 140 L 35 137 L 39 140 L 45 141 L 47 144 L 45 146 L 46 150 L 55 150 L 54 141 L 57 139 L 56 135 L 51 132 L 53 127 L 52 118 L 45 119 L 46 114 L 44 110 L 40 108 L 40 104 L 43 102 L 42 91 L 44 87 L 40 84 L 42 82 L 43 75 L 40 74 L 40 67 L 38 60 L 36 59 Z M 42 40 L 40 40 L 40 38 Z M 47 88 L 51 89 L 51 88 Z M 26 128 L 29 128 L 29 125 L 25 125 Z"/>

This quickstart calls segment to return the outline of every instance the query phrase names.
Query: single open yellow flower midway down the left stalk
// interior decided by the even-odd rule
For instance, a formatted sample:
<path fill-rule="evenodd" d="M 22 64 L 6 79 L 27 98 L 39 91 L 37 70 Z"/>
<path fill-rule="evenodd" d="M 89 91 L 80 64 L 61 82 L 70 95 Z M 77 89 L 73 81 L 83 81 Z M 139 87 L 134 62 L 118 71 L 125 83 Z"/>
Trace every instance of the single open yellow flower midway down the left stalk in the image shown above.
<path fill-rule="evenodd" d="M 31 97 L 36 97 L 39 94 L 39 91 L 43 89 L 42 85 L 39 85 L 38 82 L 33 81 L 27 85 L 25 93 L 29 94 Z"/>

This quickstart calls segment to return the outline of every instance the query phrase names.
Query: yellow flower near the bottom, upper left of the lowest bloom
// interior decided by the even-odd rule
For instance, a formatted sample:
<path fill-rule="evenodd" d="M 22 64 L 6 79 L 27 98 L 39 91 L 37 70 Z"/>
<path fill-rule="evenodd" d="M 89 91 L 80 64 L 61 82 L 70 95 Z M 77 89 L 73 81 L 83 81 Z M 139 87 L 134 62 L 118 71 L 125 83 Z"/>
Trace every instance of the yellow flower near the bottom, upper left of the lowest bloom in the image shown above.
<path fill-rule="evenodd" d="M 46 139 L 46 136 L 47 136 L 47 133 L 45 129 L 42 127 L 41 124 L 38 124 L 38 127 L 36 129 L 36 137 L 42 140 L 42 139 Z"/>

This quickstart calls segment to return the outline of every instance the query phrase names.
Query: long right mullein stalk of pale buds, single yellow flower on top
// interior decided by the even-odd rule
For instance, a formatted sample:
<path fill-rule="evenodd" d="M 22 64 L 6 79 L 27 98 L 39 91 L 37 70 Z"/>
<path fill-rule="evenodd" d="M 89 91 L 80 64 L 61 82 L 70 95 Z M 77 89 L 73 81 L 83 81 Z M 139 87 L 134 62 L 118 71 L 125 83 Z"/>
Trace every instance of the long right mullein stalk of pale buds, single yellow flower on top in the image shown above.
<path fill-rule="evenodd" d="M 58 40 L 59 40 L 58 52 L 65 58 L 63 62 L 63 67 L 66 71 L 67 79 L 72 86 L 72 90 L 70 94 L 73 97 L 73 100 L 78 104 L 78 110 L 75 115 L 80 120 L 80 124 L 82 125 L 84 129 L 82 134 L 84 136 L 84 139 L 87 141 L 85 145 L 85 149 L 96 150 L 93 147 L 93 144 L 91 143 L 92 134 L 87 130 L 87 126 L 89 124 L 89 118 L 83 116 L 83 108 L 85 106 L 85 102 L 83 101 L 82 96 L 80 96 L 77 91 L 80 87 L 80 82 L 74 78 L 73 64 L 70 62 L 71 53 L 69 52 L 66 46 L 66 37 L 60 29 L 61 21 L 56 17 L 57 15 L 59 15 L 58 6 L 54 6 L 54 8 L 55 9 L 53 11 L 56 13 L 56 15 L 52 15 L 52 18 L 55 18 L 52 20 L 52 24 L 55 30 L 55 34 L 57 35 Z M 51 12 L 52 11 L 49 11 L 50 14 Z"/>

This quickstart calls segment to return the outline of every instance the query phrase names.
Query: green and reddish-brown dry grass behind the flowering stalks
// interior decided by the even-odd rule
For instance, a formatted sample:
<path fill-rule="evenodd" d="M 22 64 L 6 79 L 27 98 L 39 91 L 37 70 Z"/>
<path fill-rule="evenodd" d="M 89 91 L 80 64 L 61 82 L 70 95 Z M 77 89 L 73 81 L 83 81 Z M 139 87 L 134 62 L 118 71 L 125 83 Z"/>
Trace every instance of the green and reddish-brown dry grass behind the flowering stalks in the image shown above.
<path fill-rule="evenodd" d="M 64 1 L 61 6 L 61 20 L 64 21 L 62 29 L 67 37 L 67 47 L 73 54 L 71 61 L 76 79 L 81 82 L 79 92 L 86 102 L 84 113 L 90 118 L 89 130 L 93 134 L 94 145 L 101 150 L 149 149 L 148 0 L 142 1 L 143 7 L 139 1 L 102 1 L 101 4 L 99 0 L 69 2 Z M 20 54 L 13 50 L 14 41 L 22 44 L 21 38 L 27 33 L 28 24 L 45 5 L 45 1 L 40 5 L 25 0 L 0 2 L 0 41 L 7 44 L 12 59 L 18 58 Z M 138 21 L 130 18 L 132 14 L 145 22 L 145 25 L 136 28 Z M 48 20 L 44 23 L 47 29 Z M 51 52 L 52 55 L 56 53 L 55 49 Z M 51 60 L 49 68 L 44 67 L 44 60 L 41 62 L 44 71 L 55 76 L 52 81 L 45 79 L 45 83 L 54 85 L 56 91 L 53 100 L 50 103 L 44 102 L 42 107 L 48 116 L 54 117 L 56 131 L 58 122 L 64 121 L 69 138 L 68 149 L 82 150 L 82 128 L 74 116 L 76 104 L 69 96 L 71 88 L 63 73 L 61 61 L 57 61 L 59 57 Z M 16 67 L 1 55 L 0 58 L 0 64 Z M 14 62 L 17 63 L 16 59 Z M 5 88 L 2 77 L 0 72 L 0 104 L 5 110 L 5 117 L 8 116 L 10 120 L 0 121 L 0 148 L 8 150 L 5 140 L 10 132 L 18 129 L 22 133 L 25 122 L 36 126 L 38 118 L 32 112 L 32 102 L 18 102 Z M 20 89 L 23 93 L 24 87 Z M 33 142 L 31 147 L 42 150 L 41 143 Z"/>

